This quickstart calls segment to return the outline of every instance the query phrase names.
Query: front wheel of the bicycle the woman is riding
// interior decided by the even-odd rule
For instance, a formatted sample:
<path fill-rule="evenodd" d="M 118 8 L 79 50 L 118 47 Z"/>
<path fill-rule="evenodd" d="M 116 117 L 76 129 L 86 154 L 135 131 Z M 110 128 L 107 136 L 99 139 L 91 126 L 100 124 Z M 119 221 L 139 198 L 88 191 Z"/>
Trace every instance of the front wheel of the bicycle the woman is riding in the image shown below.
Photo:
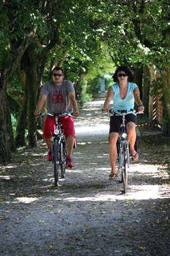
<path fill-rule="evenodd" d="M 124 193 L 127 192 L 127 169 L 128 169 L 128 152 L 129 149 L 127 147 L 128 143 L 124 143 L 123 145 L 123 169 L 122 169 L 122 176 L 123 176 L 123 188 Z"/>

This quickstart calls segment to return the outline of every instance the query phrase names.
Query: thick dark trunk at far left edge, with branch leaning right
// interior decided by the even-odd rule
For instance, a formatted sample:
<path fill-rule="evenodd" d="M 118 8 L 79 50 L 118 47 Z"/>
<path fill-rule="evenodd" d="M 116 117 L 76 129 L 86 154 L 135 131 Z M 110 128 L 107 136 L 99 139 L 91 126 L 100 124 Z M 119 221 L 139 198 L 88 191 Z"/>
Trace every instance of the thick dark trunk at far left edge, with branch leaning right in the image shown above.
<path fill-rule="evenodd" d="M 34 32 L 28 35 L 27 40 L 22 40 L 18 42 L 17 48 L 15 48 L 12 59 L 10 59 L 9 65 L 3 69 L 3 74 L 1 74 L 0 79 L 0 163 L 4 165 L 10 162 L 11 152 L 16 150 L 14 143 L 14 134 L 12 131 L 12 122 L 10 109 L 7 104 L 7 96 L 5 91 L 5 86 L 8 79 L 12 76 L 20 59 L 24 54 L 27 46 L 34 36 Z"/>

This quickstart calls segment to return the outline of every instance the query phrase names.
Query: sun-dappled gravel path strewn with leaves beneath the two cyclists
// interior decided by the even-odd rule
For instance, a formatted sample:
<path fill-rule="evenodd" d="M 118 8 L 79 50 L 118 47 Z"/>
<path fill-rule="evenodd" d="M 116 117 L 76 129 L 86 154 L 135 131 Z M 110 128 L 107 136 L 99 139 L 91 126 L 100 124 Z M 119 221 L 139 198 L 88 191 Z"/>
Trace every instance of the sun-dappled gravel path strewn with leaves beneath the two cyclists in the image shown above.
<path fill-rule="evenodd" d="M 88 102 L 75 119 L 75 167 L 57 188 L 41 141 L 1 168 L 1 256 L 169 255 L 168 159 L 151 152 L 154 135 L 149 146 L 148 130 L 139 128 L 139 160 L 131 162 L 124 195 L 122 184 L 108 180 L 102 105 Z"/>

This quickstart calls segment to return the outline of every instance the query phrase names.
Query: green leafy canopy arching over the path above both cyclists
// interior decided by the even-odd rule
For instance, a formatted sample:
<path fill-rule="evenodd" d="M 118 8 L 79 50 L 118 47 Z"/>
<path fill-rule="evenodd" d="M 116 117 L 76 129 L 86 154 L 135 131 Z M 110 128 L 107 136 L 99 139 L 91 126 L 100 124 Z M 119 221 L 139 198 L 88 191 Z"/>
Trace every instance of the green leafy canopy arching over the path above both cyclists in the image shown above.
<path fill-rule="evenodd" d="M 44 70 L 39 81 L 46 82 L 49 71 L 62 66 L 80 102 L 81 97 L 84 102 L 97 94 L 101 77 L 112 76 L 119 65 L 154 64 L 160 70 L 165 62 L 170 66 L 169 3 L 165 0 L 11 0 L 1 1 L 0 8 L 0 70 L 10 63 L 20 40 L 34 31 L 29 51 L 39 61 L 37 75 Z M 107 89 L 113 81 L 109 76 L 105 81 Z M 156 79 L 153 94 L 162 86 Z M 14 75 L 7 93 L 19 102 L 16 91 L 24 93 Z"/>

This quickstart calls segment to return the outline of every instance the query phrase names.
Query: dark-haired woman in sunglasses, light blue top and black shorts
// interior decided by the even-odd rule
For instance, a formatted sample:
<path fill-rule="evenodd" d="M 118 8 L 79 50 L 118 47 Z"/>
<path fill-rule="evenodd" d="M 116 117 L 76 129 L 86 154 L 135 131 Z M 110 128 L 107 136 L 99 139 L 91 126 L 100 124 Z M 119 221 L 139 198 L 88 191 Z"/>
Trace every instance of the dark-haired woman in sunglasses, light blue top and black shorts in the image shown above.
<path fill-rule="evenodd" d="M 130 83 L 133 81 L 133 74 L 125 66 L 120 66 L 117 68 L 113 75 L 114 85 L 109 87 L 107 91 L 106 100 L 103 105 L 103 111 L 109 113 L 109 103 L 113 100 L 112 110 L 126 110 L 134 109 L 134 104 L 138 105 L 138 111 L 143 112 L 144 106 L 140 99 L 139 88 L 135 83 Z M 131 113 L 126 115 L 126 128 L 128 130 L 128 139 L 130 144 L 130 154 L 132 160 L 136 161 L 139 155 L 134 149 L 136 140 L 136 115 Z M 114 180 L 116 177 L 116 157 L 117 157 L 117 147 L 116 141 L 118 140 L 118 134 L 120 130 L 120 117 L 112 116 L 110 117 L 109 123 L 109 160 L 111 163 L 111 173 L 109 174 L 109 180 Z"/>

